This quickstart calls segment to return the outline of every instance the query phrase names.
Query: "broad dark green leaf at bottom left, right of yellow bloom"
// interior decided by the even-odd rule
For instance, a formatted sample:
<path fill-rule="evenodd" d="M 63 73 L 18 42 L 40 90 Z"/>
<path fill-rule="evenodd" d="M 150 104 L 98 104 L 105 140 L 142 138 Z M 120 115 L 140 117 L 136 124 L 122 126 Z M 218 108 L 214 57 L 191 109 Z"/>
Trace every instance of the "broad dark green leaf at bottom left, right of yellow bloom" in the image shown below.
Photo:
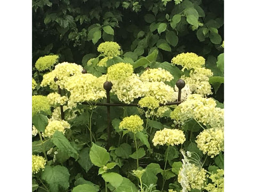
<path fill-rule="evenodd" d="M 41 178 L 49 185 L 50 191 L 59 192 L 68 190 L 69 172 L 64 166 L 45 166 Z"/>

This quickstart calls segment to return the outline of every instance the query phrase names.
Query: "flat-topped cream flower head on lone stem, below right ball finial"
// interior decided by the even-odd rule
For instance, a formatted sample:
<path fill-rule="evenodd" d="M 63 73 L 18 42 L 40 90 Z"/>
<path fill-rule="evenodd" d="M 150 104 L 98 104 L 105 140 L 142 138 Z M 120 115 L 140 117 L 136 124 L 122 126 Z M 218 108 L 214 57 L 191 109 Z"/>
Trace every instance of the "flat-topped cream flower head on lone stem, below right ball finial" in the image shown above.
<path fill-rule="evenodd" d="M 178 129 L 166 129 L 157 131 L 153 138 L 153 145 L 174 146 L 182 144 L 186 140 L 183 131 Z"/>

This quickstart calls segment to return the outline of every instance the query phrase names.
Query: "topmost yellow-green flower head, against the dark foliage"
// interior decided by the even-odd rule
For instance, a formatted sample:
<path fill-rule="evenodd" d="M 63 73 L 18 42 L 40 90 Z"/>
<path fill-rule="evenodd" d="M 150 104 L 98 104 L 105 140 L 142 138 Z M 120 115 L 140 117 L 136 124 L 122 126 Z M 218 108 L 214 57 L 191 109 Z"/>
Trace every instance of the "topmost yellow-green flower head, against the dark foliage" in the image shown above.
<path fill-rule="evenodd" d="M 103 42 L 98 46 L 97 50 L 106 57 L 117 57 L 121 54 L 121 47 L 116 42 Z"/>

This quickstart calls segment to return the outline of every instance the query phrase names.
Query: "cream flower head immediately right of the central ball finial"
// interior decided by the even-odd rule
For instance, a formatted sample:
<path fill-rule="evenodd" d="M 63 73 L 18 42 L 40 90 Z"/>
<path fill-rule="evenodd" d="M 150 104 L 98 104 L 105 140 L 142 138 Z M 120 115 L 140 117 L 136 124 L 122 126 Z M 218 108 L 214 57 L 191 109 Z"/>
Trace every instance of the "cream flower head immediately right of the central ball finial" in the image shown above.
<path fill-rule="evenodd" d="M 134 99 L 143 97 L 148 91 L 148 87 L 143 84 L 136 74 L 126 77 L 123 81 L 111 81 L 113 87 L 111 92 L 117 95 L 117 98 L 124 103 L 131 103 Z"/>

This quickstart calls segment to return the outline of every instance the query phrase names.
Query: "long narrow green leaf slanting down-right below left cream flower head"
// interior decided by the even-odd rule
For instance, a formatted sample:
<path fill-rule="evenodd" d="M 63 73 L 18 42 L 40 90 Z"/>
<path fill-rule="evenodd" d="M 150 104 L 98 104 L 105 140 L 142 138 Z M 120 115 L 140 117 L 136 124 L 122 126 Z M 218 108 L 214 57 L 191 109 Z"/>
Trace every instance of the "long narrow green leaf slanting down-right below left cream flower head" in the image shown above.
<path fill-rule="evenodd" d="M 63 153 L 67 153 L 69 156 L 74 157 L 75 159 L 78 158 L 78 153 L 73 146 L 71 146 L 68 139 L 62 132 L 56 131 L 52 135 L 51 141 L 54 143 L 55 146 L 58 147 Z"/>

